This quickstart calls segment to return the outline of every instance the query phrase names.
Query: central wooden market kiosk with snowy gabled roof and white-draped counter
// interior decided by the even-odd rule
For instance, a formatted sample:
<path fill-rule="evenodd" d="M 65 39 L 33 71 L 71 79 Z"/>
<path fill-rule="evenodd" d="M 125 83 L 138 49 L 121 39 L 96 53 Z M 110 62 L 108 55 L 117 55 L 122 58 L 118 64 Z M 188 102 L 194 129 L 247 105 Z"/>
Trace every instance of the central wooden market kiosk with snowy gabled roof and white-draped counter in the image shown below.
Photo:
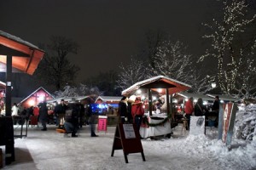
<path fill-rule="evenodd" d="M 179 82 L 169 77 L 157 76 L 142 82 L 137 82 L 122 92 L 122 95 L 130 96 L 137 94 L 137 90 L 140 89 L 148 95 L 148 97 L 144 99 L 148 101 L 148 113 L 145 115 L 146 118 L 143 119 L 142 127 L 140 128 L 140 134 L 143 138 L 172 133 L 172 94 L 185 91 L 189 88 L 191 88 L 191 86 L 186 83 Z M 155 100 L 153 99 L 153 93 L 166 95 L 166 111 L 163 111 L 161 114 L 153 114 L 153 102 Z"/>

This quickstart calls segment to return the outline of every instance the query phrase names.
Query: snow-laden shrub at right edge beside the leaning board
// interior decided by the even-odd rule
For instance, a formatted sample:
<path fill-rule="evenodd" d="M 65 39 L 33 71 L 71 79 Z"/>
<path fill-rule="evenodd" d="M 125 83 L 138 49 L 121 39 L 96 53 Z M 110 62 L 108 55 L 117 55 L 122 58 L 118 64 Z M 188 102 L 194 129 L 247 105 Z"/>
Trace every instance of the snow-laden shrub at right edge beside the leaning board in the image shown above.
<path fill-rule="evenodd" d="M 241 105 L 236 112 L 236 139 L 252 140 L 256 136 L 256 105 Z"/>

